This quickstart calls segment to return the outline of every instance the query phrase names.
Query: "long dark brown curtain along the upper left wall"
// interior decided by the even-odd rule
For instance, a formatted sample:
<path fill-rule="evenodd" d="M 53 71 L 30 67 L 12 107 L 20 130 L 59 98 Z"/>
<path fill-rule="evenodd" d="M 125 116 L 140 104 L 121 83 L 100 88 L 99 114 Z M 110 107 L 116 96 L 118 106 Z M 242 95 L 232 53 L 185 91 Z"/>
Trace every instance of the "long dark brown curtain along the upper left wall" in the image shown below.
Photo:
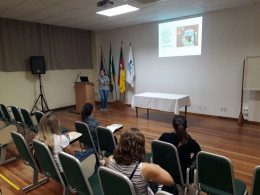
<path fill-rule="evenodd" d="M 0 71 L 29 71 L 30 56 L 46 70 L 93 68 L 91 31 L 0 18 Z"/>

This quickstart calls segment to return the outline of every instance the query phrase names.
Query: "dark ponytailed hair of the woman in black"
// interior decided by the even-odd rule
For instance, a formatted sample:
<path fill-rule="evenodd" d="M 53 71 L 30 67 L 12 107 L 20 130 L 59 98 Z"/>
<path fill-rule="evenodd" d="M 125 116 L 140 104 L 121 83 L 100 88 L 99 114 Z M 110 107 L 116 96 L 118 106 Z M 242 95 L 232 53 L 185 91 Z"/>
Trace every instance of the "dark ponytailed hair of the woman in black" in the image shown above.
<path fill-rule="evenodd" d="M 174 115 L 172 119 L 172 126 L 177 134 L 178 141 L 181 145 L 187 143 L 190 135 L 187 132 L 187 120 L 182 115 Z"/>

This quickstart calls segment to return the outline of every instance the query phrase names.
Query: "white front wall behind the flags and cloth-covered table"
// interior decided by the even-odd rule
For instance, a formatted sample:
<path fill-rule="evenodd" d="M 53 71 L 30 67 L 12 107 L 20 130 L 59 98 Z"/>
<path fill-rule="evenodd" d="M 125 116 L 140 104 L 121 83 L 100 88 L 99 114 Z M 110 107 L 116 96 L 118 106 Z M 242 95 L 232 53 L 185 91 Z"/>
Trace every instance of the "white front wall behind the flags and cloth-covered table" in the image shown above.
<path fill-rule="evenodd" d="M 237 118 L 243 60 L 260 55 L 259 10 L 260 5 L 254 5 L 203 14 L 201 56 L 158 58 L 158 23 L 97 32 L 96 41 L 106 62 L 111 41 L 116 72 L 121 41 L 125 65 L 132 43 L 136 86 L 127 86 L 126 103 L 146 91 L 186 94 L 192 103 L 189 112 Z"/>

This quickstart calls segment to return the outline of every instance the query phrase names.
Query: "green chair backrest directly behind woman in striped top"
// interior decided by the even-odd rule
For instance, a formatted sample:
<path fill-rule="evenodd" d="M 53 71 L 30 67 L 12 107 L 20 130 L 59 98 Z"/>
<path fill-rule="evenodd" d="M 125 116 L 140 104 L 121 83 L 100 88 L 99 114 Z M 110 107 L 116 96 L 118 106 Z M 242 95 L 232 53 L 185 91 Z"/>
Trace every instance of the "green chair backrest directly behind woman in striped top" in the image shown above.
<path fill-rule="evenodd" d="M 103 195 L 135 195 L 135 189 L 130 179 L 115 170 L 99 167 L 98 177 Z"/>

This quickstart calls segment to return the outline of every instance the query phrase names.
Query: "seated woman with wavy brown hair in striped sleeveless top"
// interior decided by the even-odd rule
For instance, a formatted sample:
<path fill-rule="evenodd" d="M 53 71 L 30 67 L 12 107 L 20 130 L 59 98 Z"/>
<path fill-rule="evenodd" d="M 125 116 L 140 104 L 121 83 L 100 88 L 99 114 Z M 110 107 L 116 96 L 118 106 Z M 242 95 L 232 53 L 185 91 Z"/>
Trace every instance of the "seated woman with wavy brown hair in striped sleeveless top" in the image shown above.
<path fill-rule="evenodd" d="M 132 181 L 137 195 L 154 193 L 148 188 L 150 180 L 168 187 L 174 185 L 167 171 L 159 165 L 145 162 L 145 138 L 137 128 L 128 129 L 121 134 L 120 142 L 113 156 L 108 157 L 106 166 L 125 174 Z"/>

